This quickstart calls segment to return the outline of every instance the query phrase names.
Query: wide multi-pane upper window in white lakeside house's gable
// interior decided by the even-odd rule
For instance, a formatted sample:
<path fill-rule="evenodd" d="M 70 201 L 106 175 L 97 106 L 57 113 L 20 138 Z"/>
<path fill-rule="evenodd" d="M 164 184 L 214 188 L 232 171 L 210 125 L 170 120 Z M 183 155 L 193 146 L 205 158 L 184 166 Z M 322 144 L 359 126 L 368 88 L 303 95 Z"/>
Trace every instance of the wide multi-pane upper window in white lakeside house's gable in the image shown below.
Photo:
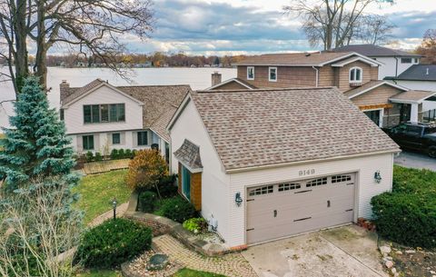
<path fill-rule="evenodd" d="M 125 121 L 123 104 L 85 104 L 84 124 L 114 123 Z"/>

